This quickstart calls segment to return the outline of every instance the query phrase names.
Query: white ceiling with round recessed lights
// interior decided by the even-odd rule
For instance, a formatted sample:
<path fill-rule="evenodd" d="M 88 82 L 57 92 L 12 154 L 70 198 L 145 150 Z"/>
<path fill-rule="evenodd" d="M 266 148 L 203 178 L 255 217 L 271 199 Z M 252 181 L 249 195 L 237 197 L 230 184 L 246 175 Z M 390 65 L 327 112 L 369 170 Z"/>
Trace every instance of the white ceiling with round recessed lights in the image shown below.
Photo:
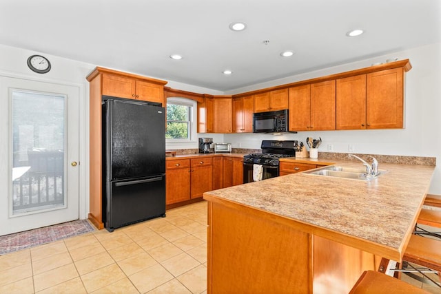
<path fill-rule="evenodd" d="M 440 3 L 1 0 L 0 43 L 227 91 L 438 43 Z M 247 30 L 229 30 L 233 21 L 247 23 Z M 354 28 L 365 34 L 347 37 Z M 296 54 L 283 58 L 283 50 Z M 170 54 L 183 59 L 174 61 Z M 225 69 L 233 74 L 223 75 Z"/>

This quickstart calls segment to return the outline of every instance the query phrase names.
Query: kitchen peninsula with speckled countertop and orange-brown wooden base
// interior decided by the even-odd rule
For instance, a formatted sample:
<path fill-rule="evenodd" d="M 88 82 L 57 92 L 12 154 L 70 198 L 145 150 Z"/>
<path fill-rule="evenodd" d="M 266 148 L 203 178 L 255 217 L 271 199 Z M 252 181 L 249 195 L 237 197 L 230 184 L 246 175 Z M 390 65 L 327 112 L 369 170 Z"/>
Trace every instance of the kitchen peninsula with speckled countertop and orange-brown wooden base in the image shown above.
<path fill-rule="evenodd" d="M 399 262 L 435 167 L 380 169 L 369 181 L 298 173 L 204 193 L 208 293 L 348 293 L 381 258 Z"/>

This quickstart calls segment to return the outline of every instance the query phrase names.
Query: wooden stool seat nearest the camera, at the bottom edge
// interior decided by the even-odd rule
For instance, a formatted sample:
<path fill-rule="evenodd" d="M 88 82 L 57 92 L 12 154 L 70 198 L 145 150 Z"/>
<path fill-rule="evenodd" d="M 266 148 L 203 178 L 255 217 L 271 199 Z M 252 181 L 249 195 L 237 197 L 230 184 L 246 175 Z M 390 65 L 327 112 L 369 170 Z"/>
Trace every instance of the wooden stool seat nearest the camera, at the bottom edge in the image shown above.
<path fill-rule="evenodd" d="M 378 271 L 362 273 L 349 294 L 429 293 Z"/>

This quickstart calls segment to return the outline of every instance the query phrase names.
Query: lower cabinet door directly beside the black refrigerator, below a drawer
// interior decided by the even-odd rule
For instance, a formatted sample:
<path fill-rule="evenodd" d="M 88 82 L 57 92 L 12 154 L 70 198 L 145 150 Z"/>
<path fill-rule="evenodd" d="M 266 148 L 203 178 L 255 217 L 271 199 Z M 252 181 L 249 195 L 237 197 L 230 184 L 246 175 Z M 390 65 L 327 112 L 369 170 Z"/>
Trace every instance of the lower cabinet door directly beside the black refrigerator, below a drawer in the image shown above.
<path fill-rule="evenodd" d="M 170 169 L 165 172 L 166 204 L 190 199 L 190 169 Z"/>

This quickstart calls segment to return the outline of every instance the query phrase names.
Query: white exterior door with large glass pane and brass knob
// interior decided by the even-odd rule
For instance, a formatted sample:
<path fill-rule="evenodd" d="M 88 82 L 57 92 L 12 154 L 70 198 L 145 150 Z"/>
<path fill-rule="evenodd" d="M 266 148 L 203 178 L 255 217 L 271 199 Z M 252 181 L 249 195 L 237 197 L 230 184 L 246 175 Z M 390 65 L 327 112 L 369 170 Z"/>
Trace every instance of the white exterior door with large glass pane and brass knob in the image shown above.
<path fill-rule="evenodd" d="M 81 87 L 0 76 L 0 101 L 0 235 L 78 220 Z"/>

